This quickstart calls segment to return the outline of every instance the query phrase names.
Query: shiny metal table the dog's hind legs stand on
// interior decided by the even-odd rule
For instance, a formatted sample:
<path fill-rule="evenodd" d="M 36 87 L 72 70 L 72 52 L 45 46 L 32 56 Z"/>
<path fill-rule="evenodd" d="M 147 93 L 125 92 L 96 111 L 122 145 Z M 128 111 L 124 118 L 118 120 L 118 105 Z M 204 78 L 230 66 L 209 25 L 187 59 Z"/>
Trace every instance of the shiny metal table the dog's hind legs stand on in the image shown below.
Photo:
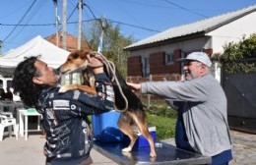
<path fill-rule="evenodd" d="M 131 152 L 122 152 L 127 146 L 123 143 L 104 143 L 95 141 L 94 148 L 99 153 L 113 160 L 117 164 L 209 164 L 212 158 L 194 152 L 179 149 L 167 143 L 160 143 L 156 147 L 157 157 L 150 158 L 150 147 L 140 147 Z"/>

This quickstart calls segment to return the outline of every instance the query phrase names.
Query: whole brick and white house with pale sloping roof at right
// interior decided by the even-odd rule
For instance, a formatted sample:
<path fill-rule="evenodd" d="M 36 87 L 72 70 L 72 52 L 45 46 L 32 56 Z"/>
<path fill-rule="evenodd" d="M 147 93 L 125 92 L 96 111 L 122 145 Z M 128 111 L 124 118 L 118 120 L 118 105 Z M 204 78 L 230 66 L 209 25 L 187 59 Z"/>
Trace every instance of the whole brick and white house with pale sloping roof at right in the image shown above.
<path fill-rule="evenodd" d="M 171 27 L 153 36 L 135 42 L 124 50 L 128 58 L 128 82 L 149 79 L 180 80 L 182 66 L 178 58 L 193 51 L 204 51 L 209 56 L 222 53 L 224 44 L 241 40 L 256 32 L 256 5 L 234 12 L 195 22 Z M 220 81 L 220 68 L 213 66 L 215 77 Z"/>

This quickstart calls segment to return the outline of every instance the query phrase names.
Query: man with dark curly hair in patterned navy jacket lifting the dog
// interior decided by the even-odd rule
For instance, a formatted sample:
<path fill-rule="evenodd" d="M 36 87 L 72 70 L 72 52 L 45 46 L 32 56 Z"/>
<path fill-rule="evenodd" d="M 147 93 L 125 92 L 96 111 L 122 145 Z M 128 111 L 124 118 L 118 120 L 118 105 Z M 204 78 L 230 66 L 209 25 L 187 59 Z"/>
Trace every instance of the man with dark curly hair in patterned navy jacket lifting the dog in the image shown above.
<path fill-rule="evenodd" d="M 102 65 L 96 57 L 87 56 L 92 66 Z M 80 90 L 59 93 L 60 75 L 40 61 L 30 57 L 15 70 L 14 91 L 25 105 L 42 115 L 41 125 L 46 134 L 43 152 L 46 165 L 88 165 L 92 142 L 88 115 L 113 109 L 113 87 L 102 67 L 93 69 L 96 75 L 96 96 Z"/>

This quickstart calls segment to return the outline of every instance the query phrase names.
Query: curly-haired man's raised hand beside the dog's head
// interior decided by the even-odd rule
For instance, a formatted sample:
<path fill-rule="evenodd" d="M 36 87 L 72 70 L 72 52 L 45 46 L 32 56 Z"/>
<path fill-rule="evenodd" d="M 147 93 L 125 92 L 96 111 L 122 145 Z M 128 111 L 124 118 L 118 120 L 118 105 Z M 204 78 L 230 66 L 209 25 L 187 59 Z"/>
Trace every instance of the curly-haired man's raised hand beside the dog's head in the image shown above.
<path fill-rule="evenodd" d="M 103 63 L 101 62 L 100 58 L 92 56 L 91 54 L 87 55 L 87 60 L 89 61 L 89 66 L 92 68 L 95 74 L 103 73 Z"/>

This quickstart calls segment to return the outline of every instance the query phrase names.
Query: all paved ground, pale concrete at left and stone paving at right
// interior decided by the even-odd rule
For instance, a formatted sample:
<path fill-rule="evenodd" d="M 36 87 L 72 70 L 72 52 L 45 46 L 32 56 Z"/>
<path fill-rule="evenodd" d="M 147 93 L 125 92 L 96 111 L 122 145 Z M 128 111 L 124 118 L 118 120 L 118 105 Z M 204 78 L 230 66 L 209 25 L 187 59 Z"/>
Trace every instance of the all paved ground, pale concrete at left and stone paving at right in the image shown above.
<path fill-rule="evenodd" d="M 230 165 L 253 165 L 256 164 L 256 135 L 231 131 L 233 141 L 234 159 Z M 29 140 L 19 137 L 5 137 L 0 142 L 0 164 L 1 165 L 44 165 L 42 145 L 44 138 L 39 134 L 30 133 Z M 173 144 L 173 138 L 163 140 Z M 92 150 L 94 164 L 114 165 L 113 161 Z"/>

